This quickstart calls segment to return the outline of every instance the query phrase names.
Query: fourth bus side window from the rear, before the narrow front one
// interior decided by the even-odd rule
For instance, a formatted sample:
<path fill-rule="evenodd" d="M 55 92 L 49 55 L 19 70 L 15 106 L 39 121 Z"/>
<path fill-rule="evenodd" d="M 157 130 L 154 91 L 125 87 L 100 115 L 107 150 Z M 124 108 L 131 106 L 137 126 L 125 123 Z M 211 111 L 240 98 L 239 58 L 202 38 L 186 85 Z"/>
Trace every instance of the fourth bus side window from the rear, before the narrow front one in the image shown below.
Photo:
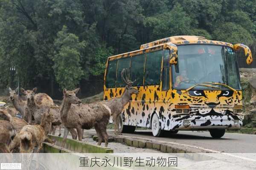
<path fill-rule="evenodd" d="M 163 51 L 146 54 L 145 85 L 159 85 Z"/>

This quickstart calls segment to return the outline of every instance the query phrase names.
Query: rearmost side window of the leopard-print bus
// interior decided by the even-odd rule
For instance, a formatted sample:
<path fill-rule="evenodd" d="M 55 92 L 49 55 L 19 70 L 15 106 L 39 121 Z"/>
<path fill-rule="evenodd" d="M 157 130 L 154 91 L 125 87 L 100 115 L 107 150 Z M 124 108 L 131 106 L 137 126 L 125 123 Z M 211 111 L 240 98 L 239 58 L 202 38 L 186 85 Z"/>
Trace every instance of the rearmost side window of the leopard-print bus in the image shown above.
<path fill-rule="evenodd" d="M 108 62 L 108 70 L 107 70 L 107 77 L 106 77 L 107 88 L 116 87 L 116 65 L 117 65 L 117 60 Z"/>

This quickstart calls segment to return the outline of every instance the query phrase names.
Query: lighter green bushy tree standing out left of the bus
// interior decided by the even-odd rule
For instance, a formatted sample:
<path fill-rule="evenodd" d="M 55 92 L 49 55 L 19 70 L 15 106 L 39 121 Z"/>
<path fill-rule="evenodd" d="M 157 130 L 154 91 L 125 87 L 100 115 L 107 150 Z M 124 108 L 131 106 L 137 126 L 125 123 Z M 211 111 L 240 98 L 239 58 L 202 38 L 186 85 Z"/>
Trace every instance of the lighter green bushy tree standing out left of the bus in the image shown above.
<path fill-rule="evenodd" d="M 68 33 L 67 27 L 57 33 L 55 40 L 54 72 L 61 88 L 73 89 L 84 74 L 80 65 L 80 51 L 86 46 L 75 34 Z"/>

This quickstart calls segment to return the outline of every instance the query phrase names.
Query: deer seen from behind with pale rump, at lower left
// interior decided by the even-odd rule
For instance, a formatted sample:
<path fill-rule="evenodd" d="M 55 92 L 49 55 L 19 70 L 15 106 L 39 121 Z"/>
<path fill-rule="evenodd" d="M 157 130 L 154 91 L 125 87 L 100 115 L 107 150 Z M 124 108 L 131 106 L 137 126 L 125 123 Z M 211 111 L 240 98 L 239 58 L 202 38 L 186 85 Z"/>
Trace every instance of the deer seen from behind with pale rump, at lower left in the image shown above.
<path fill-rule="evenodd" d="M 20 131 L 20 152 L 38 153 L 42 148 L 42 143 L 47 139 L 52 125 L 52 114 L 50 109 L 42 116 L 40 125 L 26 125 Z"/>

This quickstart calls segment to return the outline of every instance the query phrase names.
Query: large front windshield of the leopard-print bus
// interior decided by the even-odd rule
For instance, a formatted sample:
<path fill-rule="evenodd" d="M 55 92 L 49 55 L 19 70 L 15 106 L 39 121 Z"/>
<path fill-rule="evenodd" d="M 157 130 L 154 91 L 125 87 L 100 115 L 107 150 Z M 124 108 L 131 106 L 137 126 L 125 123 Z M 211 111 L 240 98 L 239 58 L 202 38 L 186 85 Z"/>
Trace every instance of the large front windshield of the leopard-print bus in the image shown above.
<path fill-rule="evenodd" d="M 239 69 L 232 48 L 221 45 L 178 46 L 178 64 L 172 65 L 173 87 L 184 90 L 203 82 L 218 82 L 240 89 Z M 213 88 L 197 86 L 194 89 Z"/>

